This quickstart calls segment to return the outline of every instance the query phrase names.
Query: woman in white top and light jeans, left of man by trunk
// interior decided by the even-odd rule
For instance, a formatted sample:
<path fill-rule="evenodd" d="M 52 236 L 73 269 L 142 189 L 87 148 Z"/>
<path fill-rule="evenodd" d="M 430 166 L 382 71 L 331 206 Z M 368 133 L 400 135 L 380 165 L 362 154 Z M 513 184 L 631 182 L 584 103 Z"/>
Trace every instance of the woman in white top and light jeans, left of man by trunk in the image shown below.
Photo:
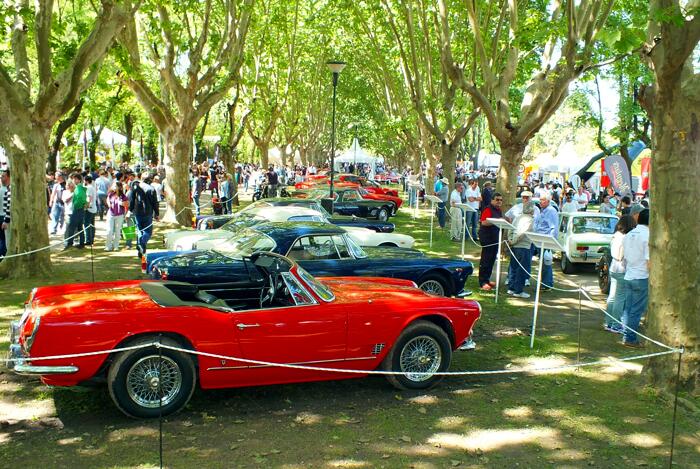
<path fill-rule="evenodd" d="M 636 223 L 631 215 L 621 217 L 615 225 L 615 234 L 610 241 L 612 261 L 608 268 L 610 293 L 608 294 L 607 311 L 618 321 L 622 320 L 625 309 L 625 262 L 622 241 L 625 235 L 632 231 Z M 610 316 L 605 316 L 605 330 L 621 334 L 622 325 Z"/>

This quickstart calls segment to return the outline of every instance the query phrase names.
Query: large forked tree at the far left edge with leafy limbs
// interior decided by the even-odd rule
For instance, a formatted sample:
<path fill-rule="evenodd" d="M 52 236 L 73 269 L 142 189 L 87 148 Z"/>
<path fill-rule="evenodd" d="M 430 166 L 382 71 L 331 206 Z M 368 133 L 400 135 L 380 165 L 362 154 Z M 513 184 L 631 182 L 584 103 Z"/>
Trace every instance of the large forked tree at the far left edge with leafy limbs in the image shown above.
<path fill-rule="evenodd" d="M 103 0 L 97 10 L 74 4 L 75 15 L 52 0 L 4 2 L 0 21 L 12 54 L 0 56 L 0 145 L 11 167 L 12 213 L 8 253 L 33 251 L 49 241 L 45 185 L 51 129 L 97 79 L 102 59 L 138 2 Z M 60 33 L 58 31 L 61 31 Z M 8 58 L 10 60 L 8 60 Z M 0 275 L 46 275 L 47 250 L 6 259 Z"/>

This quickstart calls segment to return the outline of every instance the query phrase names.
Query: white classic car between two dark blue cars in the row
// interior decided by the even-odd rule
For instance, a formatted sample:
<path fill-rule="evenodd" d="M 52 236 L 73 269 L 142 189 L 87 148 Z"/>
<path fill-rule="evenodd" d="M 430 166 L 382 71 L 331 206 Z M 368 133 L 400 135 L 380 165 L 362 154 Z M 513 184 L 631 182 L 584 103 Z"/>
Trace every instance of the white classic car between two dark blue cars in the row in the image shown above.
<path fill-rule="evenodd" d="M 224 226 L 216 230 L 179 230 L 165 236 L 165 247 L 169 251 L 188 251 L 191 249 L 216 249 L 238 232 L 269 221 L 316 221 L 330 223 L 321 213 L 305 207 L 275 206 L 256 207 L 240 212 Z M 377 233 L 361 227 L 341 226 L 360 246 L 395 246 L 412 248 L 415 239 L 399 233 Z"/>

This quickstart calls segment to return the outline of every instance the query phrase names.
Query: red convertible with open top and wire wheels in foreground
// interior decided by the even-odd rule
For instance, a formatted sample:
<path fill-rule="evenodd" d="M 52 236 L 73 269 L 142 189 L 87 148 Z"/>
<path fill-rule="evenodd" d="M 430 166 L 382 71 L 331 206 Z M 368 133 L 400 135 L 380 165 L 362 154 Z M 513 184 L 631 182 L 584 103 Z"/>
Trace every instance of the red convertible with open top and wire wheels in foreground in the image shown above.
<path fill-rule="evenodd" d="M 449 368 L 452 351 L 481 312 L 475 301 L 431 296 L 406 280 L 316 279 L 271 253 L 251 262 L 261 275 L 249 282 L 36 288 L 11 326 L 9 366 L 54 386 L 106 379 L 116 406 L 138 418 L 182 409 L 197 385 L 258 386 L 392 370 L 402 373 L 387 376 L 394 386 L 423 389 L 440 380 L 435 373 Z M 57 355 L 69 356 L 38 359 Z"/>

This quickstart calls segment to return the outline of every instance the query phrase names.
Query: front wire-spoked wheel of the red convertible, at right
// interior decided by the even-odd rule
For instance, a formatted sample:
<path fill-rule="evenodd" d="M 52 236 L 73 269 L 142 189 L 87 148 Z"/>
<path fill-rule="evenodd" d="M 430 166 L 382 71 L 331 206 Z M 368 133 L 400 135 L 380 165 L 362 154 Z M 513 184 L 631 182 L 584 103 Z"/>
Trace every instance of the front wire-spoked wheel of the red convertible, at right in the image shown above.
<path fill-rule="evenodd" d="M 382 361 L 381 368 L 384 371 L 409 372 L 386 376 L 389 383 L 398 389 L 429 389 L 439 383 L 442 376 L 417 373 L 446 371 L 451 360 L 452 346 L 447 333 L 432 322 L 416 321 L 401 332 Z"/>

